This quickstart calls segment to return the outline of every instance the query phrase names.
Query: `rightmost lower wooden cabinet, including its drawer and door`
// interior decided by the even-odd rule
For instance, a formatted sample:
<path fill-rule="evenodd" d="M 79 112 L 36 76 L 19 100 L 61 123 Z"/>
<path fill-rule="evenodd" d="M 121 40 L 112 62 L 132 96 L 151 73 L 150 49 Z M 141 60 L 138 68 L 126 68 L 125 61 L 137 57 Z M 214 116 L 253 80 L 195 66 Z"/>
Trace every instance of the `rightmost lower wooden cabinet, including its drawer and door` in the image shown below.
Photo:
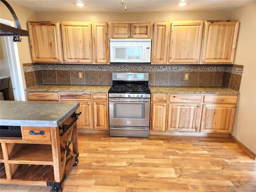
<path fill-rule="evenodd" d="M 201 132 L 232 133 L 237 95 L 204 96 Z"/>

